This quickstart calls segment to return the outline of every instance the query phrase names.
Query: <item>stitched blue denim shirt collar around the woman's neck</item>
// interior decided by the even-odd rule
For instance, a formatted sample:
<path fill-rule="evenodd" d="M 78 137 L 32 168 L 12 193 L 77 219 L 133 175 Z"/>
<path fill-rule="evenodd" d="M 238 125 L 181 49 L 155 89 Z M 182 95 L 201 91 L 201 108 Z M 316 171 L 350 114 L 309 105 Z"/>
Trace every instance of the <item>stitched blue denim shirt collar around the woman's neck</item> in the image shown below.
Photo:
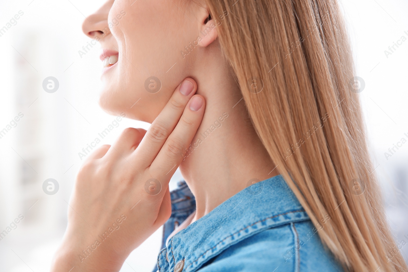
<path fill-rule="evenodd" d="M 193 272 L 222 250 L 262 230 L 307 219 L 281 175 L 259 181 L 169 240 L 170 271 L 184 261 L 183 271 Z"/>

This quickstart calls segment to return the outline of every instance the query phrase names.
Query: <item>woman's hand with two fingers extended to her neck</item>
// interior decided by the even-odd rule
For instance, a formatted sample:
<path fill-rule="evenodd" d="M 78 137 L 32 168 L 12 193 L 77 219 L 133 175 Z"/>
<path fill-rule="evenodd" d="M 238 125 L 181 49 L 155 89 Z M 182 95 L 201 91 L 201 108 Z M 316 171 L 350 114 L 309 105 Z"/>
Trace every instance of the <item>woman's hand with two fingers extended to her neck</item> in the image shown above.
<path fill-rule="evenodd" d="M 119 271 L 130 252 L 169 219 L 169 181 L 204 114 L 204 97 L 196 90 L 186 78 L 147 132 L 126 128 L 113 146 L 86 159 L 51 271 Z"/>

